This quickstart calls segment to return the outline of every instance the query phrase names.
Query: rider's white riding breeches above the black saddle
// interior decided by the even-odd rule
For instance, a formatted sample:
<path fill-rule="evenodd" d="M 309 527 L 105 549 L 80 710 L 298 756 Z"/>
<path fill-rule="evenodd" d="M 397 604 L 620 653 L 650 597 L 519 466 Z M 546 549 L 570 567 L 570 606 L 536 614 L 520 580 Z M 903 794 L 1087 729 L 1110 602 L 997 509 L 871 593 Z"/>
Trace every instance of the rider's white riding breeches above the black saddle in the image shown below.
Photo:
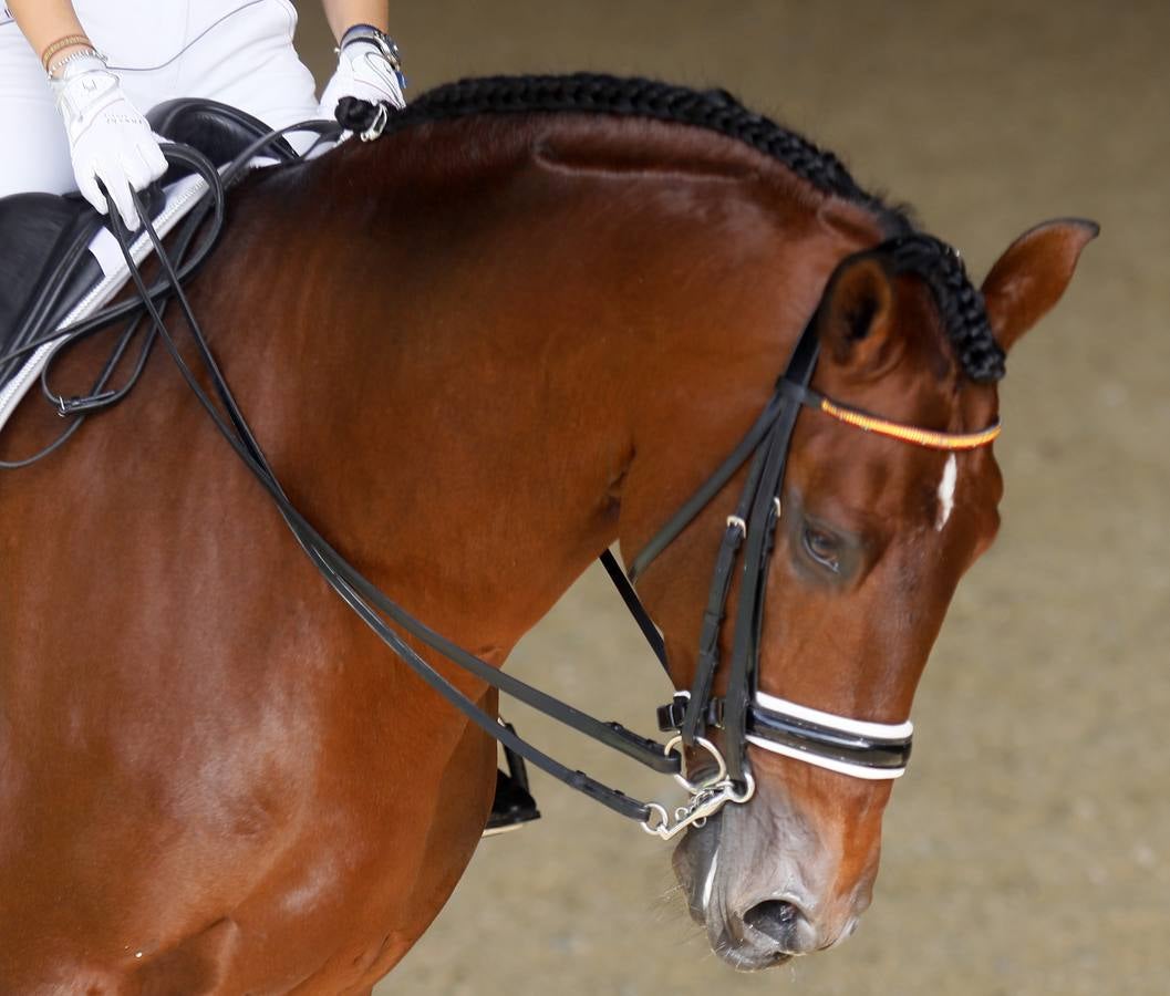
<path fill-rule="evenodd" d="M 176 97 L 232 104 L 271 128 L 317 117 L 292 48 L 291 0 L 75 0 L 90 40 L 139 111 Z M 77 188 L 37 54 L 0 6 L 0 197 Z M 314 136 L 289 136 L 298 151 Z"/>

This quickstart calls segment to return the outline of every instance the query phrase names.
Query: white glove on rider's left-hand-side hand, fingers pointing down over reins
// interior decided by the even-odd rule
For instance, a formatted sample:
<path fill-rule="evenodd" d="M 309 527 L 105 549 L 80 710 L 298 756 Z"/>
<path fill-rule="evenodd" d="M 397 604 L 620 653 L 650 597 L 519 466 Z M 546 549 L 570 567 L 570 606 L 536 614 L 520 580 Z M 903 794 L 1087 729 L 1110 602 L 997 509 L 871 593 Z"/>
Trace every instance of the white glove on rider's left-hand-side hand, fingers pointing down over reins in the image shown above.
<path fill-rule="evenodd" d="M 166 172 L 166 159 L 146 118 L 125 98 L 118 77 L 97 55 L 71 59 L 50 85 L 66 122 L 82 197 L 108 213 L 110 206 L 97 186 L 101 179 L 126 227 L 137 229 L 131 190 L 142 191 Z"/>

